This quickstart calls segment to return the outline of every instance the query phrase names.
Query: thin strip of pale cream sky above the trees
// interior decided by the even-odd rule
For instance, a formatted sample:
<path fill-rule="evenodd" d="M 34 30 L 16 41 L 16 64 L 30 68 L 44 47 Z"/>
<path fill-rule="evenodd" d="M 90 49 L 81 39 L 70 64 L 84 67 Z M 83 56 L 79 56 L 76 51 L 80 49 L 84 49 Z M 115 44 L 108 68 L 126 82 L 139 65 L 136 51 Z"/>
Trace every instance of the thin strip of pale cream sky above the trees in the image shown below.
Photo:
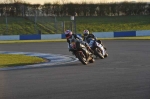
<path fill-rule="evenodd" d="M 0 1 L 4 2 L 4 1 L 14 1 L 14 0 L 0 0 Z M 107 2 L 122 2 L 122 1 L 150 2 L 150 0 L 21 0 L 21 1 L 25 1 L 25 2 L 31 3 L 31 4 L 44 4 L 44 3 L 55 3 L 55 2 L 59 2 L 59 3 L 65 3 L 65 2 L 73 2 L 73 3 L 76 3 L 76 2 L 87 2 L 87 3 L 105 2 L 105 3 L 107 3 Z"/>

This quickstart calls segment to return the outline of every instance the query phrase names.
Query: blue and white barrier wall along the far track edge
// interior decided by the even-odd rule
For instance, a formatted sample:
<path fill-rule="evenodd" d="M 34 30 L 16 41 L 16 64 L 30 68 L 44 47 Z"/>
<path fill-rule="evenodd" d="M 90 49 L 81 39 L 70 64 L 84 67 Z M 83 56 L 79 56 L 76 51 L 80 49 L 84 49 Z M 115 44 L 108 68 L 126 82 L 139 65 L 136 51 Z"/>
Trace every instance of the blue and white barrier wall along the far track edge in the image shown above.
<path fill-rule="evenodd" d="M 150 30 L 121 31 L 121 32 L 93 32 L 97 38 L 150 36 Z M 78 34 L 81 36 L 81 34 Z M 64 34 L 31 34 L 31 35 L 1 35 L 0 40 L 49 40 L 65 39 Z"/>

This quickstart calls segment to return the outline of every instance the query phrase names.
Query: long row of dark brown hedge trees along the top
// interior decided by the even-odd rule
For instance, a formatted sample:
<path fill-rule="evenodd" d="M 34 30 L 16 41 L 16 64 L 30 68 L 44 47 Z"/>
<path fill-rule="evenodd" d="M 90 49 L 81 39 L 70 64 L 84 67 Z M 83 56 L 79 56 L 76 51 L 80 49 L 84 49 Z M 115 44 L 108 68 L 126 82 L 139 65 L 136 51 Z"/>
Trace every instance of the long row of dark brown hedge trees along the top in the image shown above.
<path fill-rule="evenodd" d="M 150 3 L 1 3 L 0 16 L 122 16 L 150 15 Z"/>

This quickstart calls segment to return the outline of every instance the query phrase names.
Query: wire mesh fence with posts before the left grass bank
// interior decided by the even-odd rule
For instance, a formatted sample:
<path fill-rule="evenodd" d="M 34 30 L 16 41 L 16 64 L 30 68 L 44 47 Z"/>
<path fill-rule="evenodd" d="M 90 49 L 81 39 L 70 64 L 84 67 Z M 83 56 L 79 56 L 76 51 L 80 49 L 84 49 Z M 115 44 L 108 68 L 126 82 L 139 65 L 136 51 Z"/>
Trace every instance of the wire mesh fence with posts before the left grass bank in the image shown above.
<path fill-rule="evenodd" d="M 74 30 L 72 21 L 58 21 L 56 16 L 0 16 L 0 35 L 61 34 Z"/>

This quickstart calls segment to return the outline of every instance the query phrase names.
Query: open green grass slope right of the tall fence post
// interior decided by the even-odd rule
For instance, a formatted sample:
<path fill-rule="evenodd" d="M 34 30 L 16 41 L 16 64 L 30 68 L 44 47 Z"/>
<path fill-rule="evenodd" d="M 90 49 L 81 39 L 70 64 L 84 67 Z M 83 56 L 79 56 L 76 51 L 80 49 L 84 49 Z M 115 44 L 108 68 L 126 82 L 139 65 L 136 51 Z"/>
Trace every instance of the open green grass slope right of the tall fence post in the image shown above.
<path fill-rule="evenodd" d="M 90 32 L 150 30 L 150 16 L 105 16 L 105 17 L 75 17 L 77 32 L 84 29 Z M 59 18 L 58 18 L 59 19 Z M 68 20 L 69 17 L 59 20 Z"/>

